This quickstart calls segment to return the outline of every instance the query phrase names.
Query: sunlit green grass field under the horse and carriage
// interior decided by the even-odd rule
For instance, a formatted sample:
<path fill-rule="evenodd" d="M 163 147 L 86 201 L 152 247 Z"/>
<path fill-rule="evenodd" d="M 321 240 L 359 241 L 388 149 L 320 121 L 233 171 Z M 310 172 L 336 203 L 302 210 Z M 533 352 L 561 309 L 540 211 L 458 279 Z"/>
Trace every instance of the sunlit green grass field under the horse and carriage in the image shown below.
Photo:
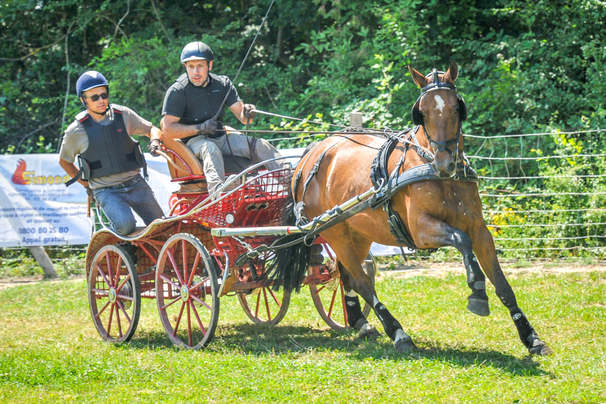
<path fill-rule="evenodd" d="M 489 317 L 465 309 L 462 265 L 378 274 L 379 298 L 418 346 L 409 354 L 384 335 L 332 331 L 308 290 L 273 328 L 222 297 L 215 339 L 182 351 L 154 301 L 131 342 L 111 345 L 90 320 L 83 278 L 10 287 L 0 291 L 0 403 L 606 403 L 606 268 L 581 269 L 506 271 L 551 357 L 528 356 L 491 285 Z"/>

